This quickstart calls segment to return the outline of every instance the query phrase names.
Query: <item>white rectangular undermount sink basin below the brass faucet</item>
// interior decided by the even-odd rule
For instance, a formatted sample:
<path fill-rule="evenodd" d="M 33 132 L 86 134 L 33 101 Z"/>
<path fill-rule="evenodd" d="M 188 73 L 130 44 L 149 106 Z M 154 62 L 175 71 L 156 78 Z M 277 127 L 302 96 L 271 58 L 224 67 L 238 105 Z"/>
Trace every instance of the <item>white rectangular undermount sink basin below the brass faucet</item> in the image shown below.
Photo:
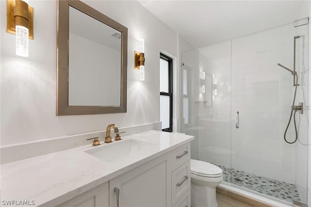
<path fill-rule="evenodd" d="M 130 139 L 96 147 L 85 152 L 105 162 L 112 162 L 138 153 L 152 152 L 153 146 L 152 143 Z"/>

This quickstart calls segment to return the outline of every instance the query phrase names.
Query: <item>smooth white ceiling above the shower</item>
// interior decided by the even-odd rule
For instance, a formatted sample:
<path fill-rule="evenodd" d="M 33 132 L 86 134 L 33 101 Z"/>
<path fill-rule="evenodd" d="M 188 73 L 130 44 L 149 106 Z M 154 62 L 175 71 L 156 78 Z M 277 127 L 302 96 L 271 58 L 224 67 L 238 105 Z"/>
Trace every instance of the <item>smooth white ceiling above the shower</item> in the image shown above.
<path fill-rule="evenodd" d="M 302 0 L 138 0 L 195 48 L 297 20 Z"/>

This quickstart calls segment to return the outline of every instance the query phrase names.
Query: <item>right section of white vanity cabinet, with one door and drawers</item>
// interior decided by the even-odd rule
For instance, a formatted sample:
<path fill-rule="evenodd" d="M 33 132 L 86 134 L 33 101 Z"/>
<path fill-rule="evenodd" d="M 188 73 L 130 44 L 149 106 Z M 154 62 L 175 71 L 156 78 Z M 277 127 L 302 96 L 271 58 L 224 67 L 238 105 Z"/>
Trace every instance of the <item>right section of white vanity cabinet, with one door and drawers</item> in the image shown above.
<path fill-rule="evenodd" d="M 109 180 L 109 207 L 173 207 L 189 192 L 190 143 Z"/>

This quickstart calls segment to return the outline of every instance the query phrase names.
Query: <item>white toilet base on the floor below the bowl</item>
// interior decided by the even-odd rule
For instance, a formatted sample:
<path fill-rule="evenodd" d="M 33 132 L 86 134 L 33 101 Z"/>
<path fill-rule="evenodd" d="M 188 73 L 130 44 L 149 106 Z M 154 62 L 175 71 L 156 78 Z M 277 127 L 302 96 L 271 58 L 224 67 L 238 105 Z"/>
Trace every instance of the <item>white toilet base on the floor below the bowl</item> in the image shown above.
<path fill-rule="evenodd" d="M 191 207 L 218 207 L 216 188 L 191 184 Z"/>

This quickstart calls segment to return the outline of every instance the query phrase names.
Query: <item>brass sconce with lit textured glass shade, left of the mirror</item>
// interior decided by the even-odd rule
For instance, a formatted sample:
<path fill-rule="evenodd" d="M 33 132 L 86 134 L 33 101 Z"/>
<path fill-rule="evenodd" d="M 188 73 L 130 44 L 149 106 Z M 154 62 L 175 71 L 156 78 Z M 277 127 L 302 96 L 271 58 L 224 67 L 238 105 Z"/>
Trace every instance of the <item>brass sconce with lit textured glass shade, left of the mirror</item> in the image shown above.
<path fill-rule="evenodd" d="M 7 0 L 7 32 L 16 36 L 16 55 L 28 57 L 28 40 L 34 39 L 34 8 L 28 0 Z"/>

